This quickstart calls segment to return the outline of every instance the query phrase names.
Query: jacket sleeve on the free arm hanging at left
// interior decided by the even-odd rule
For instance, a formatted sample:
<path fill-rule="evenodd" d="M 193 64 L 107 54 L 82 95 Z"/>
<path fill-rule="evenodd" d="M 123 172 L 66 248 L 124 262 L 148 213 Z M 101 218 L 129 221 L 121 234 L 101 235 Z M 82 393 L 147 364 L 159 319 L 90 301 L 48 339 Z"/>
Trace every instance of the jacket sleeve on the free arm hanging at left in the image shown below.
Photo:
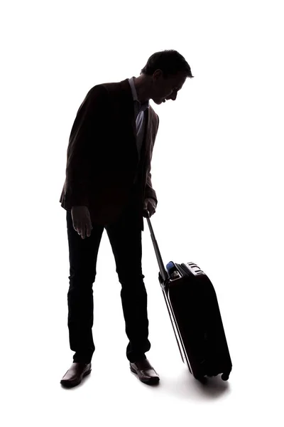
<path fill-rule="evenodd" d="M 75 117 L 67 147 L 65 209 L 89 206 L 90 174 L 95 163 L 94 144 L 106 121 L 107 90 L 94 86 L 87 93 Z"/>

